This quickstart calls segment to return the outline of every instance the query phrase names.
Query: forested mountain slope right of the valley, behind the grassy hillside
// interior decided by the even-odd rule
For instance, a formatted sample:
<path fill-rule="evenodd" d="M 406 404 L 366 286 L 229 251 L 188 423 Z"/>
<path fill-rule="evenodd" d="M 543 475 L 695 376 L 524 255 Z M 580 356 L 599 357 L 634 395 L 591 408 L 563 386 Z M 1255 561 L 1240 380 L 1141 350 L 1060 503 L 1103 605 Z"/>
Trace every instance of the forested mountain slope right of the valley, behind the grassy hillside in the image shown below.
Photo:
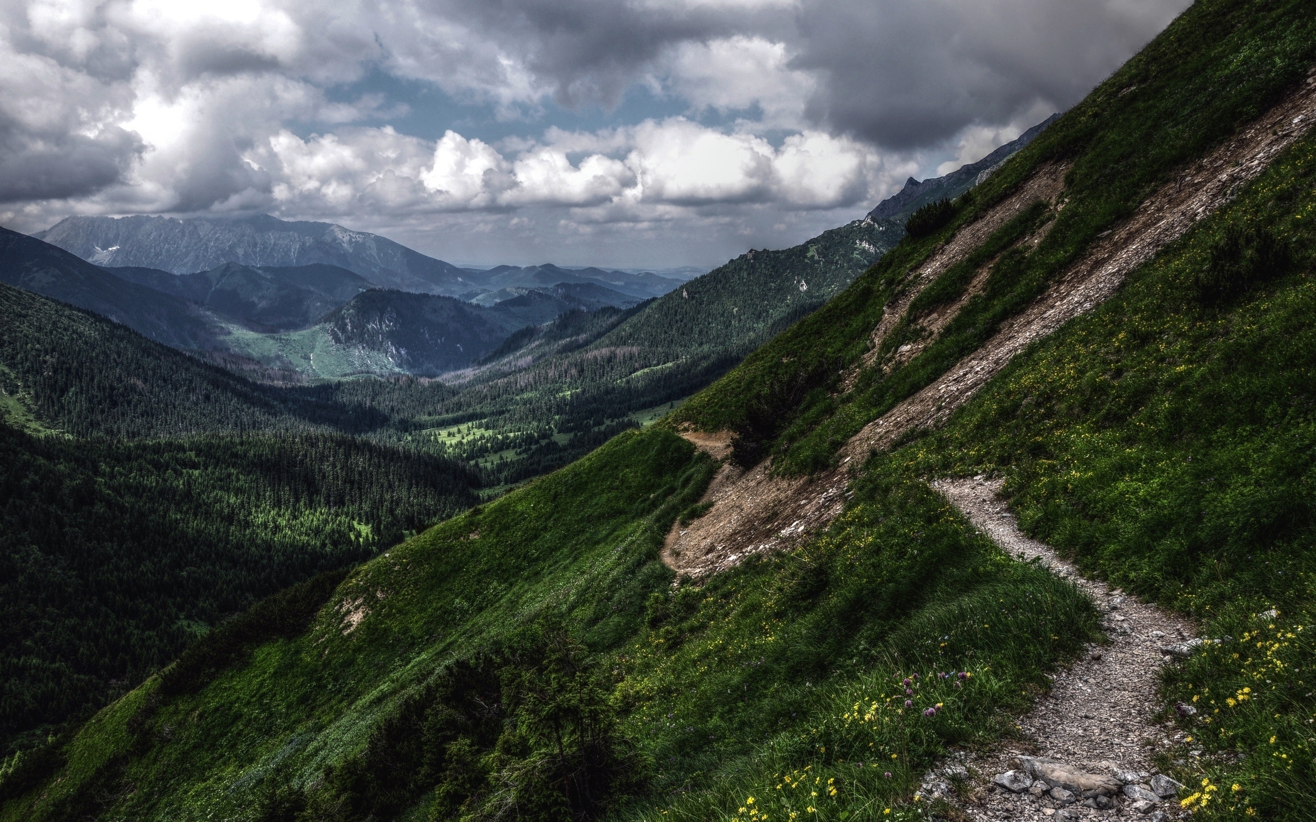
<path fill-rule="evenodd" d="M 904 235 L 894 221 L 857 220 L 799 246 L 755 250 L 625 312 L 563 316 L 525 329 L 467 370 L 417 416 L 412 442 L 520 481 L 592 448 L 600 431 L 651 420 L 704 388 L 757 346 L 816 310 Z M 505 305 L 505 304 L 499 304 Z M 475 437 L 454 437 L 479 421 Z M 494 460 L 496 455 L 496 462 Z"/>

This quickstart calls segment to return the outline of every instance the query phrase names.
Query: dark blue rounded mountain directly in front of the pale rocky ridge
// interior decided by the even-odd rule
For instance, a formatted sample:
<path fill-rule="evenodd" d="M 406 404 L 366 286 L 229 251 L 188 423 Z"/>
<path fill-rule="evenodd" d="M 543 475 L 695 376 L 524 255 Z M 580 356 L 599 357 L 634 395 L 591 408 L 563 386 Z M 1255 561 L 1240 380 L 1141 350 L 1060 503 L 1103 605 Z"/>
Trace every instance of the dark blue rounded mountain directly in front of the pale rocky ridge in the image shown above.
<path fill-rule="evenodd" d="M 197 274 L 158 268 L 105 268 L 114 276 L 199 302 L 251 330 L 283 331 L 311 325 L 363 291 L 370 280 L 338 266 L 253 268 L 224 263 Z"/>

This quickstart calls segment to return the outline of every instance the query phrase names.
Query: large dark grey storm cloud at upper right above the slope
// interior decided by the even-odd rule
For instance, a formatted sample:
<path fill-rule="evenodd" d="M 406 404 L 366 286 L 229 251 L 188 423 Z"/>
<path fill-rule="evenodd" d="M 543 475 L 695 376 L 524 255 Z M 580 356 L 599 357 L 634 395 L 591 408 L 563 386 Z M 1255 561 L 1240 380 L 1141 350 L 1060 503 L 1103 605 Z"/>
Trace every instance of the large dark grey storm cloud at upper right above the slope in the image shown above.
<path fill-rule="evenodd" d="M 822 75 L 816 122 L 919 147 L 1036 103 L 1073 105 L 1187 5 L 820 0 L 799 14 L 795 64 Z"/>

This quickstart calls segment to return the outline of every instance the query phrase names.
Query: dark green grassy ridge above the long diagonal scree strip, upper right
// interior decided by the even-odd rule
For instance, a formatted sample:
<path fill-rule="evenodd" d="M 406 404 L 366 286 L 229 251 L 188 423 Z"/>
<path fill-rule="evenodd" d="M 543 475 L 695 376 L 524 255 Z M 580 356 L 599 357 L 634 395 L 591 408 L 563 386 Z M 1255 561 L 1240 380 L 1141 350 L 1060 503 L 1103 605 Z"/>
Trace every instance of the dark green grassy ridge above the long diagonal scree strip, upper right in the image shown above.
<path fill-rule="evenodd" d="M 1316 63 L 1316 22 L 1305 3 L 1196 3 L 1087 99 L 1016 154 L 963 201 L 951 224 L 904 242 L 840 299 L 712 385 L 674 417 L 703 430 L 751 429 L 772 443 L 776 470 L 808 472 L 900 400 L 945 372 L 1023 309 L 1087 245 L 1126 217 L 1183 163 L 1227 139 L 1302 83 Z M 894 374 L 875 370 L 833 400 L 838 375 L 867 349 L 882 305 L 950 234 L 999 201 L 1044 162 L 1065 162 L 1065 209 L 1026 256 L 1001 260 L 986 292 Z M 962 279 L 948 271 L 946 279 Z M 932 288 L 936 288 L 934 284 Z M 961 285 L 962 288 L 962 285 Z M 883 352 L 908 339 L 894 334 Z M 759 426 L 762 427 L 762 426 Z"/>

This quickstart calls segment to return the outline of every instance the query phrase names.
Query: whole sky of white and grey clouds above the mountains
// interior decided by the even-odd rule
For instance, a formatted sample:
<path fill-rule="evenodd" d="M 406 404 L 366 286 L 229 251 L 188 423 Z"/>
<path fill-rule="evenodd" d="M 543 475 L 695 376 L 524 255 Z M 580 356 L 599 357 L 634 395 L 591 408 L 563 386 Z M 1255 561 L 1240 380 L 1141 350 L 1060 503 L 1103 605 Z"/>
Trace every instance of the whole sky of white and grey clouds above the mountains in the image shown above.
<path fill-rule="evenodd" d="M 1188 0 L 5 0 L 0 225 L 267 212 L 715 266 L 1062 110 Z"/>

